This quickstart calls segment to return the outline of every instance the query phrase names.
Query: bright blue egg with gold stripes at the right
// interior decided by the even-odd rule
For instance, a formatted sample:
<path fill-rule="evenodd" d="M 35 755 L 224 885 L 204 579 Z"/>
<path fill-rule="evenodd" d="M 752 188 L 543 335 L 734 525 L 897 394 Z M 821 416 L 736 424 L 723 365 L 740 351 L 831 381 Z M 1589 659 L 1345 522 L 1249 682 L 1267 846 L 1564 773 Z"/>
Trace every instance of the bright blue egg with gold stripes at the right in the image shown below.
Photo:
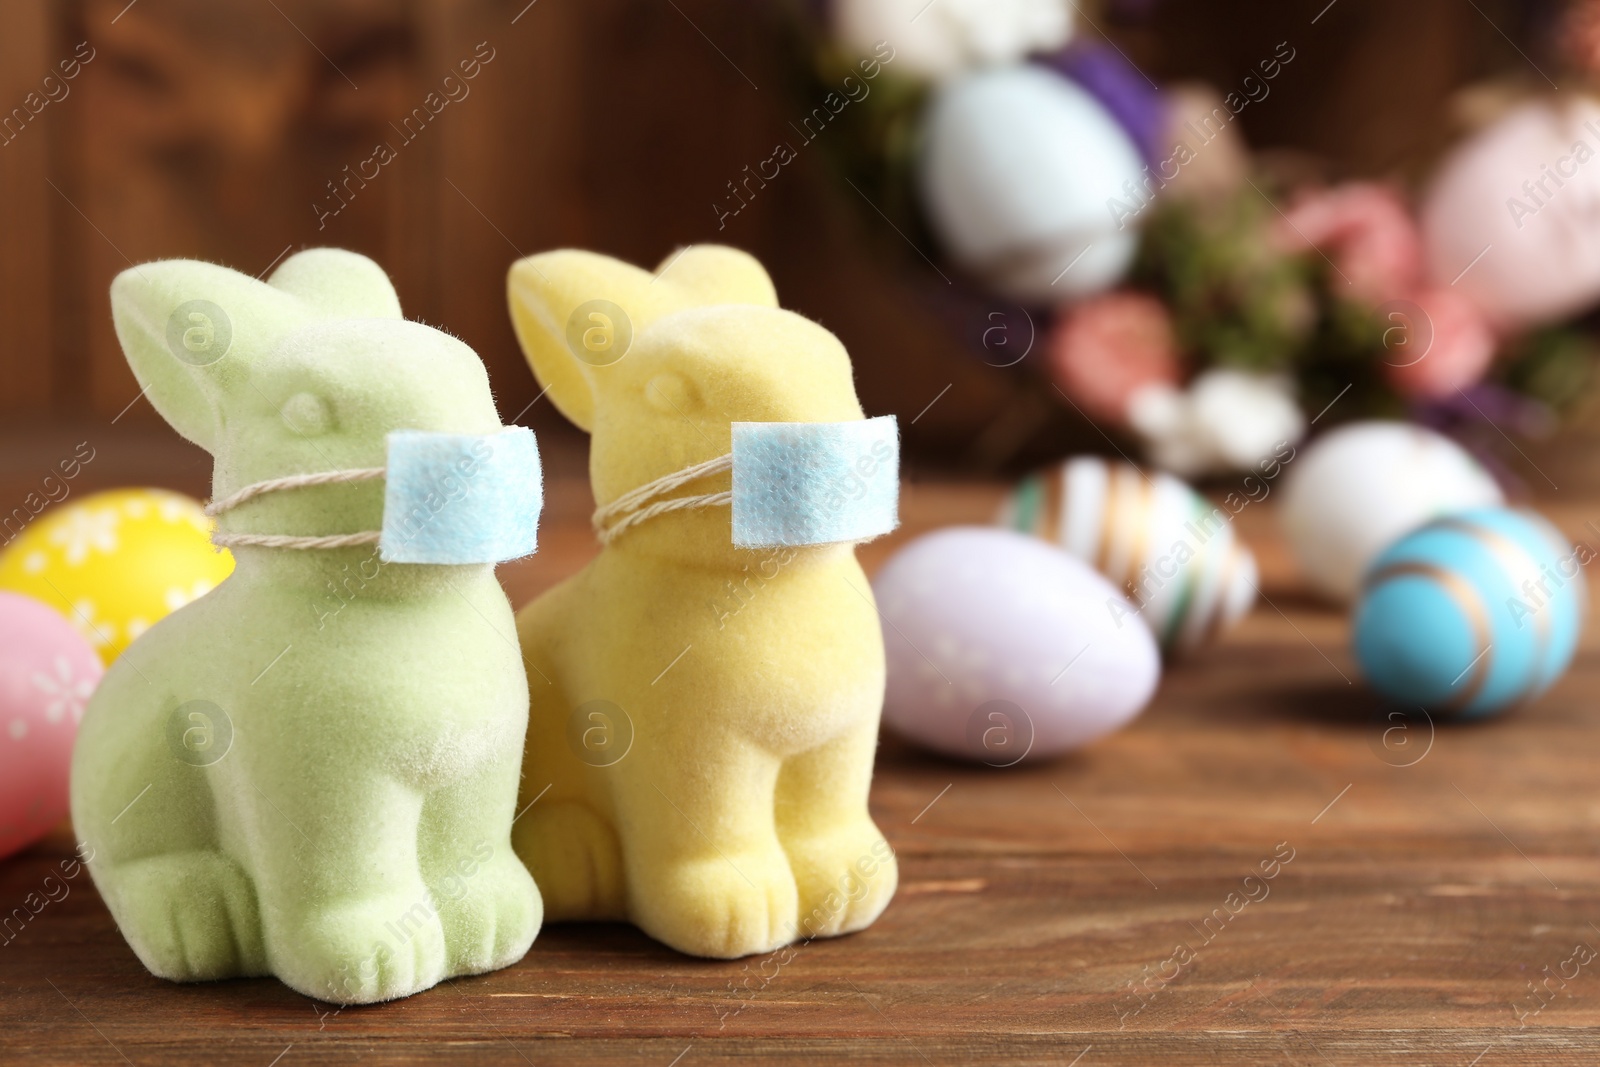
<path fill-rule="evenodd" d="M 1366 571 L 1355 657 L 1386 697 L 1429 712 L 1475 718 L 1533 701 L 1573 661 L 1594 557 L 1522 509 L 1437 518 Z"/>

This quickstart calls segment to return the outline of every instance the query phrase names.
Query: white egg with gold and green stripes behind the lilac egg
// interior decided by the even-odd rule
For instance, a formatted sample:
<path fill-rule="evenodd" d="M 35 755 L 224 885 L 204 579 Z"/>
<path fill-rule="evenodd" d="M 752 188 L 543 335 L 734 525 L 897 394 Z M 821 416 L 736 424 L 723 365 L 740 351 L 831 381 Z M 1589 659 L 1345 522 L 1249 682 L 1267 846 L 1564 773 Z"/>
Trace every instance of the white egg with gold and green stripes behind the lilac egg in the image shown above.
<path fill-rule="evenodd" d="M 1109 577 L 1168 653 L 1205 645 L 1256 597 L 1256 557 L 1234 536 L 1227 512 L 1166 474 L 1069 459 L 1026 478 L 1000 523 Z"/>

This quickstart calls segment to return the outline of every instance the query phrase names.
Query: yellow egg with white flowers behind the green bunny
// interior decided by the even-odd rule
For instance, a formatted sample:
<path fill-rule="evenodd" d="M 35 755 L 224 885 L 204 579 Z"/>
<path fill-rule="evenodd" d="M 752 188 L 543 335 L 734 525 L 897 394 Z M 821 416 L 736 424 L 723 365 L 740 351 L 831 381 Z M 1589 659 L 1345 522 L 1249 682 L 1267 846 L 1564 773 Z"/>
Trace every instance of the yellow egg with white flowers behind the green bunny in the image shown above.
<path fill-rule="evenodd" d="M 232 571 L 200 502 L 168 490 L 64 501 L 0 550 L 0 589 L 56 608 L 107 664 Z"/>

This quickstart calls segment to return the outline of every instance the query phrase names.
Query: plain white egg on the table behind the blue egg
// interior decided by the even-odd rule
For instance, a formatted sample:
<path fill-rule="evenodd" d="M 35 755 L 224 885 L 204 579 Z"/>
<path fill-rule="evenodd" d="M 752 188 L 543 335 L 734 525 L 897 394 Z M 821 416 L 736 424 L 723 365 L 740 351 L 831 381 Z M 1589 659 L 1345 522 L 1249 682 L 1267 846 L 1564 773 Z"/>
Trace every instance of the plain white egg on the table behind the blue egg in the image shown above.
<path fill-rule="evenodd" d="M 1410 422 L 1354 422 L 1291 459 L 1280 517 L 1306 577 L 1350 601 L 1379 552 L 1416 526 L 1504 504 L 1459 445 Z"/>

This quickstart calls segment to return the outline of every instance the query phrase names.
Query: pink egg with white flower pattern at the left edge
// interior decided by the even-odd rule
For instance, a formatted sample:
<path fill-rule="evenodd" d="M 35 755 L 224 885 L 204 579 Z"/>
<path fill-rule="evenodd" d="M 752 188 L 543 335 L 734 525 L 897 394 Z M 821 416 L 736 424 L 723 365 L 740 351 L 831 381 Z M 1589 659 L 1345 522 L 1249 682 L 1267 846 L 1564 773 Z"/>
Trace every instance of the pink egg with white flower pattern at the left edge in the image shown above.
<path fill-rule="evenodd" d="M 53 608 L 0 592 L 0 857 L 66 817 L 72 741 L 102 672 Z"/>

